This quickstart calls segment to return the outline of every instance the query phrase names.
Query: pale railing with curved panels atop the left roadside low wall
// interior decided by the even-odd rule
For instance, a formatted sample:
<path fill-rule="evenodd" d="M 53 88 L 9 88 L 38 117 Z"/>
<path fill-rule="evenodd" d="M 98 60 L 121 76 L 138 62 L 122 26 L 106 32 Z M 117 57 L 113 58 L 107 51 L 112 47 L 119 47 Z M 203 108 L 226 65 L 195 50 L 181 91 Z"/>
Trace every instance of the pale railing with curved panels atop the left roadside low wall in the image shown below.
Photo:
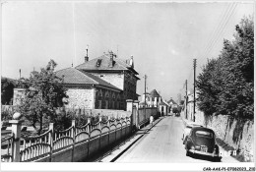
<path fill-rule="evenodd" d="M 18 124 L 19 122 L 15 123 Z M 12 126 L 13 129 L 17 129 L 16 132 L 21 134 L 21 124 Z M 20 127 L 19 127 L 20 126 Z M 53 123 L 50 123 L 49 130 L 44 134 L 36 137 L 21 136 L 21 139 L 16 142 L 16 147 L 19 148 L 20 162 L 36 161 L 41 158 L 49 158 L 53 153 L 57 153 L 63 149 L 70 148 L 72 150 L 72 161 L 74 157 L 74 147 L 76 144 L 90 142 L 93 139 L 100 138 L 102 135 L 109 135 L 110 132 L 116 132 L 118 129 L 123 129 L 131 126 L 131 117 L 125 117 L 121 119 L 109 119 L 102 122 L 101 117 L 96 124 L 91 123 L 89 118 L 88 124 L 84 126 L 76 126 L 75 120 L 72 120 L 72 126 L 63 131 L 54 130 Z M 126 134 L 126 130 L 125 130 Z M 2 140 L 1 143 L 5 143 L 6 153 L 2 156 L 2 161 L 12 162 L 14 161 L 14 137 L 9 137 Z M 109 143 L 109 136 L 108 136 Z M 18 145 L 17 145 L 18 144 Z M 99 140 L 100 147 L 100 140 Z M 2 153 L 3 154 L 3 153 Z"/>

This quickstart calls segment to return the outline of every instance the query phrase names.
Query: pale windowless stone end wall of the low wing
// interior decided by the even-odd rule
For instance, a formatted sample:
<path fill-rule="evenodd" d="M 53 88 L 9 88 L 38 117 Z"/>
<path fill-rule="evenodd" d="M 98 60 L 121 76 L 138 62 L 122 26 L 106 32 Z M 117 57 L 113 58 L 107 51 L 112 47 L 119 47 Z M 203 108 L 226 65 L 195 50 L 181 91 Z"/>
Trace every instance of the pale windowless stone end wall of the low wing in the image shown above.
<path fill-rule="evenodd" d="M 86 109 L 95 108 L 95 89 L 85 88 L 68 88 L 67 90 L 68 104 L 67 108 L 84 107 Z"/>

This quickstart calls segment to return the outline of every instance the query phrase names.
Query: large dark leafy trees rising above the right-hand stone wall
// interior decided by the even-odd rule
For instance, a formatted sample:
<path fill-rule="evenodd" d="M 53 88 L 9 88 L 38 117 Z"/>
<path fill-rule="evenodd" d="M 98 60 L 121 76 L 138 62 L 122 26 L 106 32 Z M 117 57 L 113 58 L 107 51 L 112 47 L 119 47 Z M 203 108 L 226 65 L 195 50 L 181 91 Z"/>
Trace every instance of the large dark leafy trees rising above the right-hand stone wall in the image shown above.
<path fill-rule="evenodd" d="M 206 115 L 254 118 L 254 24 L 251 17 L 235 27 L 234 40 L 224 40 L 217 59 L 198 76 L 198 106 Z"/>

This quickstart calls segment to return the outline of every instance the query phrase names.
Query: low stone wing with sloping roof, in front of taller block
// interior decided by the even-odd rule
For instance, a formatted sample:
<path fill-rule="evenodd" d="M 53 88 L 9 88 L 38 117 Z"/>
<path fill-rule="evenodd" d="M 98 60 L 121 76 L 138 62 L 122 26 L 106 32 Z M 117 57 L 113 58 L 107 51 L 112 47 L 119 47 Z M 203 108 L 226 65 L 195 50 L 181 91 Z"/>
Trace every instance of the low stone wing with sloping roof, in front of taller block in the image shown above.
<path fill-rule="evenodd" d="M 63 78 L 63 85 L 67 88 L 69 108 L 86 109 L 121 109 L 121 89 L 100 78 L 67 68 L 56 72 L 56 76 Z"/>

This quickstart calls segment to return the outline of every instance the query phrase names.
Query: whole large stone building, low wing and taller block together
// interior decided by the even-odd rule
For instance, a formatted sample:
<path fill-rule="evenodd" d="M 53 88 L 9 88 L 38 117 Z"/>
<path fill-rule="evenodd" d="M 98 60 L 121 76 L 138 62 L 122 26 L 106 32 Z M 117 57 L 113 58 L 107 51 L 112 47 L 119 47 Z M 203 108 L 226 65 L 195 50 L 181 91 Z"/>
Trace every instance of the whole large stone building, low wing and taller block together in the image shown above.
<path fill-rule="evenodd" d="M 126 109 L 126 99 L 138 100 L 134 60 L 121 60 L 113 52 L 103 54 L 75 67 L 59 70 L 69 98 L 67 107 L 86 109 Z M 24 90 L 14 90 L 14 104 L 19 103 Z"/>

